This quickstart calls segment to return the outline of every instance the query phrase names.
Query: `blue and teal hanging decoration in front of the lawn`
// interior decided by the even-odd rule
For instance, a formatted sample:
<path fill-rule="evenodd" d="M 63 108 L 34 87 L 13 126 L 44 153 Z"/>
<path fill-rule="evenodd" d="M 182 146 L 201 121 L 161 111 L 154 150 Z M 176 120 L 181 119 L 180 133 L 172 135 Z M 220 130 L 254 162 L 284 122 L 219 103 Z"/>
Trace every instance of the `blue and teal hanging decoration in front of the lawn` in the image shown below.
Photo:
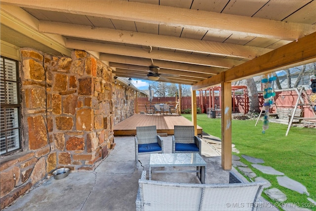
<path fill-rule="evenodd" d="M 269 128 L 269 110 L 273 106 L 272 97 L 276 96 L 275 90 L 273 88 L 275 81 L 275 73 L 273 73 L 270 77 L 269 75 L 263 75 L 261 79 L 261 83 L 263 84 L 264 98 L 262 110 L 265 111 L 265 116 L 263 117 L 262 134 L 265 134 L 266 130 Z"/>

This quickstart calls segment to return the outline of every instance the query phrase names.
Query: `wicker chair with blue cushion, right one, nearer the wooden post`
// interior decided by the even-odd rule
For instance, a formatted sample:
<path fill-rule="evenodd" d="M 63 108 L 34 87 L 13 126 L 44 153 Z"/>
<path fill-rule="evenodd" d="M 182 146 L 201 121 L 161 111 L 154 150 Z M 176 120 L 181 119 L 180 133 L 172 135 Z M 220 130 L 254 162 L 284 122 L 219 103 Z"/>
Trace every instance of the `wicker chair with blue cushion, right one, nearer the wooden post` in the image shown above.
<path fill-rule="evenodd" d="M 194 126 L 174 126 L 172 153 L 201 154 L 201 140 L 194 135 Z"/>

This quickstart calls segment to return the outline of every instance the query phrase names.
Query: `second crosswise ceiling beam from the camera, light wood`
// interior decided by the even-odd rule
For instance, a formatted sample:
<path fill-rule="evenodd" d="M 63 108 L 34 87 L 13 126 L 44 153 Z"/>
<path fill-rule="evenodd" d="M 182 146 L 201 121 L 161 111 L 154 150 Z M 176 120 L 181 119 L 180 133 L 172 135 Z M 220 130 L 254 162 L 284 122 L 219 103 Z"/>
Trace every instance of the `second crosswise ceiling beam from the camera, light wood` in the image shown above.
<path fill-rule="evenodd" d="M 39 31 L 62 36 L 77 37 L 91 40 L 136 44 L 143 46 L 162 47 L 189 52 L 205 53 L 237 58 L 253 59 L 273 49 L 238 45 L 231 43 L 200 41 L 141 32 L 131 32 L 109 28 L 91 28 L 91 26 L 40 21 Z"/>

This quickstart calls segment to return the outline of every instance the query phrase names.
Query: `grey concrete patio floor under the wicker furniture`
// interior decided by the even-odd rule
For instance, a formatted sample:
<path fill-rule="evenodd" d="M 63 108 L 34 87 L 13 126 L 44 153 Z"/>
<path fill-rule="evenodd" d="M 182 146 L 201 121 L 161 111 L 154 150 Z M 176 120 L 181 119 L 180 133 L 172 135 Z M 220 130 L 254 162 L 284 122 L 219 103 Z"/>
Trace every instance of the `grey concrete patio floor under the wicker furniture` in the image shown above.
<path fill-rule="evenodd" d="M 171 153 L 171 136 L 162 139 L 164 153 Z M 149 169 L 150 155 L 140 155 L 141 164 L 135 169 L 134 136 L 117 136 L 115 142 L 115 149 L 94 171 L 72 171 L 64 179 L 50 177 L 5 211 L 134 211 L 138 179 L 143 169 Z M 202 157 L 207 163 L 205 183 L 228 183 L 229 171 L 222 169 L 221 156 L 205 141 Z M 198 183 L 195 173 L 154 173 L 152 179 Z M 277 209 L 268 206 L 259 210 Z"/>

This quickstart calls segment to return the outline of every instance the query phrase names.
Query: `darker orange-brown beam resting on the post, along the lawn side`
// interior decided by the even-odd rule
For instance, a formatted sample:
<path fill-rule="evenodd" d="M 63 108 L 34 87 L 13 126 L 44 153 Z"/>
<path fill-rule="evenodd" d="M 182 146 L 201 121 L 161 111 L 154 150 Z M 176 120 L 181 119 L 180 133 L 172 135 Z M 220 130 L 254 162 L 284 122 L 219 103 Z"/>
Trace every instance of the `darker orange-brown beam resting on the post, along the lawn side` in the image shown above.
<path fill-rule="evenodd" d="M 193 90 L 316 62 L 316 32 L 192 86 Z"/>

